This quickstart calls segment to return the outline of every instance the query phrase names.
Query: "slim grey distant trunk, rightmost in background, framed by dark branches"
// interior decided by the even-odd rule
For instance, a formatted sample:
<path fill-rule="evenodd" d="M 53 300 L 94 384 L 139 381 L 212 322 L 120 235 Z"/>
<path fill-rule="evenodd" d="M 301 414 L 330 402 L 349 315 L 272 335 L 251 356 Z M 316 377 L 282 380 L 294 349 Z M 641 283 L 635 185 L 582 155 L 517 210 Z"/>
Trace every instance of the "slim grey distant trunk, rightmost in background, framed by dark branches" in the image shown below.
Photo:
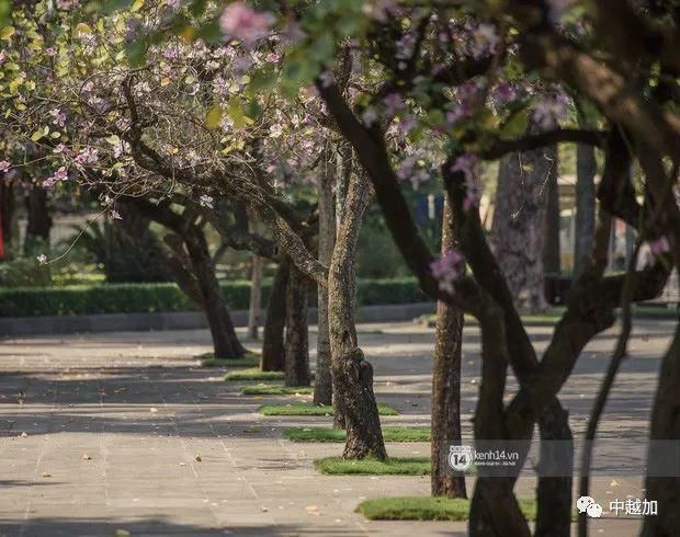
<path fill-rule="evenodd" d="M 576 222 L 574 229 L 574 277 L 588 265 L 596 228 L 594 148 L 576 147 Z"/>

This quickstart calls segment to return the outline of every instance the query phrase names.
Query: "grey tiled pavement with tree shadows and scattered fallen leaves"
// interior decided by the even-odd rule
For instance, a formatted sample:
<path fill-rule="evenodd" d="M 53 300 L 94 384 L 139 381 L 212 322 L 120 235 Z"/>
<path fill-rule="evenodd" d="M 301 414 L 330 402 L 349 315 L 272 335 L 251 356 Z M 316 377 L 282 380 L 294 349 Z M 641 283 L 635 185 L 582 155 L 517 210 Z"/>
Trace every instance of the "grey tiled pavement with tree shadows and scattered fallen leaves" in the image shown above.
<path fill-rule="evenodd" d="M 608 407 L 602 435 L 644 432 L 658 359 L 671 324 L 643 323 Z M 428 424 L 432 330 L 363 325 L 378 399 Z M 466 331 L 463 411 L 478 379 L 478 331 Z M 532 329 L 541 350 L 547 329 Z M 588 346 L 560 395 L 583 430 L 614 332 Z M 465 535 L 464 524 L 367 522 L 361 499 L 427 494 L 428 478 L 327 477 L 313 460 L 340 444 L 293 444 L 290 425 L 328 419 L 264 418 L 241 385 L 192 358 L 205 331 L 39 336 L 0 343 L 0 536 Z M 248 342 L 256 349 L 257 343 Z M 469 432 L 469 421 L 465 422 Z M 24 434 L 25 433 L 25 434 Z M 427 456 L 428 444 L 390 444 L 390 455 Z M 200 458 L 200 460 L 197 460 Z M 532 483 L 520 482 L 519 495 Z M 472 488 L 472 483 L 471 483 Z M 593 496 L 643 498 L 638 478 L 594 483 Z M 607 514 L 605 514 L 607 515 Z M 637 521 L 610 515 L 593 535 L 636 535 Z M 124 533 L 121 535 L 125 535 Z"/>

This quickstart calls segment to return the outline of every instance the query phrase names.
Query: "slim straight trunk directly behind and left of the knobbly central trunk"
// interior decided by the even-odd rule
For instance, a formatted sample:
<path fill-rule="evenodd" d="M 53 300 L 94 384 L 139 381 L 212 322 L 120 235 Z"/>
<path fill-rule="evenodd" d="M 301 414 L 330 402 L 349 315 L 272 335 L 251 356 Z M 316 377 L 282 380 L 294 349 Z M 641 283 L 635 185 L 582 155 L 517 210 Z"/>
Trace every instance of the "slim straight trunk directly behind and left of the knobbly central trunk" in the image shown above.
<path fill-rule="evenodd" d="M 336 241 L 336 215 L 332 186 L 336 162 L 332 146 L 326 145 L 324 171 L 319 184 L 319 262 L 328 266 Z M 315 404 L 332 403 L 332 375 L 330 372 L 330 341 L 328 334 L 328 290 L 318 286 L 318 334 L 316 345 L 316 376 L 314 380 Z"/>

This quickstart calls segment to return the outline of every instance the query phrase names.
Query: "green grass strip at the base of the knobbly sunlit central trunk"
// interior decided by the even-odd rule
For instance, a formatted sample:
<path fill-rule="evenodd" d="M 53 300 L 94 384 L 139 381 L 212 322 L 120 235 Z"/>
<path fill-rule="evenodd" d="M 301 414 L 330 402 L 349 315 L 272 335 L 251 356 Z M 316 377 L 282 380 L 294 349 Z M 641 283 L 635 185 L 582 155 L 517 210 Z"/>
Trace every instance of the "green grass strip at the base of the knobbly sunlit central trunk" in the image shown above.
<path fill-rule="evenodd" d="M 377 460 L 371 457 L 348 460 L 342 457 L 326 457 L 314 461 L 321 473 L 358 476 L 426 476 L 430 473 L 428 457 L 393 457 Z"/>

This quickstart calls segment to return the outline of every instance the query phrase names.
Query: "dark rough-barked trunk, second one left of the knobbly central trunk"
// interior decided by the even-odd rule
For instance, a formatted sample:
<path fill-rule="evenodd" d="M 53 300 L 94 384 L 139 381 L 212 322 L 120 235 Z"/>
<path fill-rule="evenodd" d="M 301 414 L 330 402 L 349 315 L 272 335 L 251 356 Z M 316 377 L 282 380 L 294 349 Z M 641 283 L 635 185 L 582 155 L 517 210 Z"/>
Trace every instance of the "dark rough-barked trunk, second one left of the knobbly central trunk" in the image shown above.
<path fill-rule="evenodd" d="M 291 266 L 286 289 L 285 385 L 309 386 L 307 277 Z"/>

